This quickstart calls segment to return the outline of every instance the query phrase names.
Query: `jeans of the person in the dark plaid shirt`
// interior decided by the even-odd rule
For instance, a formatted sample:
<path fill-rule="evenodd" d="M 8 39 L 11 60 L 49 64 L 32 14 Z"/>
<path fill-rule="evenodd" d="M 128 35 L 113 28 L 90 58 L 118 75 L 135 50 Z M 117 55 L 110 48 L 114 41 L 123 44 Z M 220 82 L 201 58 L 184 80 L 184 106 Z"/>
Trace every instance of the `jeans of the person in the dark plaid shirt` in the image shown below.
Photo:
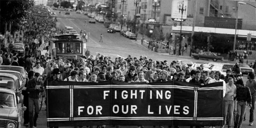
<path fill-rule="evenodd" d="M 244 121 L 244 114 L 246 111 L 247 102 L 237 101 L 237 109 L 236 109 L 236 121 L 235 124 L 238 124 L 238 127 L 241 127 Z"/>

